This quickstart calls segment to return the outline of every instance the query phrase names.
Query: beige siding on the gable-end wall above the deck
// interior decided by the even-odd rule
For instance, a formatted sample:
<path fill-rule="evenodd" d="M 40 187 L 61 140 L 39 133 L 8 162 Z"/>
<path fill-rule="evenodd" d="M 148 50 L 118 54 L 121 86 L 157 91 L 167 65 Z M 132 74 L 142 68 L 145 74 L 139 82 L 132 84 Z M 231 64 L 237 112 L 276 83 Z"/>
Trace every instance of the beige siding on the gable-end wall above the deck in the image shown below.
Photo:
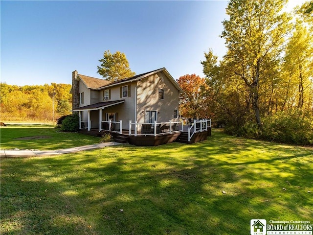
<path fill-rule="evenodd" d="M 164 100 L 159 99 L 159 89 L 164 90 Z M 145 111 L 157 111 L 157 122 L 166 122 L 174 120 L 174 110 L 178 110 L 179 106 L 179 92 L 167 76 L 159 72 L 138 82 L 137 100 L 138 122 L 145 121 Z"/>

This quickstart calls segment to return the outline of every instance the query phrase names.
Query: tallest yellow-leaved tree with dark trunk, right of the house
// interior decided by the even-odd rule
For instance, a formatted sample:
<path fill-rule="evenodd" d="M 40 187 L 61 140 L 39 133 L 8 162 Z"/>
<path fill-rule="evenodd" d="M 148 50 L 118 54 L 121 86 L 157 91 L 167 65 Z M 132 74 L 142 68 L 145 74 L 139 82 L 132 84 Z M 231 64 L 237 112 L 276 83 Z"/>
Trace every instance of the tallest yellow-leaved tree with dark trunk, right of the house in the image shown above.
<path fill-rule="evenodd" d="M 291 30 L 290 17 L 280 13 L 286 0 L 230 0 L 223 22 L 227 54 L 224 59 L 249 91 L 257 125 L 261 128 L 260 89 L 267 68 L 277 64 L 284 38 Z"/>

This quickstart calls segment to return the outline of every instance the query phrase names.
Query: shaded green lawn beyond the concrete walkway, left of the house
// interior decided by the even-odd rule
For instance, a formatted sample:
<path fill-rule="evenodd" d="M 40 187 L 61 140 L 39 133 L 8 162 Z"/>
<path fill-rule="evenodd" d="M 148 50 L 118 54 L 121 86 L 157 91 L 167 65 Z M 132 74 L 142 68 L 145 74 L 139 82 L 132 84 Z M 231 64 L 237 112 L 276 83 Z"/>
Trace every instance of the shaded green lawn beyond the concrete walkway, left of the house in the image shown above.
<path fill-rule="evenodd" d="M 28 137 L 46 137 L 19 140 Z M 61 132 L 55 125 L 8 125 L 1 127 L 1 149 L 56 150 L 99 143 L 98 137 Z"/>

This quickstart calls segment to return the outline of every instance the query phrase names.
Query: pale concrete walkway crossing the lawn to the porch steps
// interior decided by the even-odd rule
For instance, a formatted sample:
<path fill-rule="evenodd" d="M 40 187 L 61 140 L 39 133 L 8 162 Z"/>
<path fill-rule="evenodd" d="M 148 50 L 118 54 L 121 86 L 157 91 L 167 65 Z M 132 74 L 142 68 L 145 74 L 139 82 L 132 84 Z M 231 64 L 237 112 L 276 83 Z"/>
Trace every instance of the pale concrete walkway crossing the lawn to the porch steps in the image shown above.
<path fill-rule="evenodd" d="M 98 143 L 98 144 L 58 149 L 58 150 L 0 150 L 0 157 L 1 158 L 16 158 L 16 157 L 52 156 L 52 155 L 74 153 L 74 152 L 96 149 L 96 148 L 104 148 L 104 147 L 118 145 L 118 144 L 121 144 L 121 143 L 107 142 L 107 143 Z"/>

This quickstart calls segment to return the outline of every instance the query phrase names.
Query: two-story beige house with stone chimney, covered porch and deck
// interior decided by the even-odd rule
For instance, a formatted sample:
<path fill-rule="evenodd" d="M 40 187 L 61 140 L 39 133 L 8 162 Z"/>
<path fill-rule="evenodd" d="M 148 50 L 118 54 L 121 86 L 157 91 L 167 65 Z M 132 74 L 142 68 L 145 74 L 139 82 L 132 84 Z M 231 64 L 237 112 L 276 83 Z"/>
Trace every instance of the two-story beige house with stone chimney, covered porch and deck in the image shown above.
<path fill-rule="evenodd" d="M 181 92 L 165 68 L 113 82 L 73 71 L 70 91 L 81 130 L 110 131 L 114 137 L 125 134 L 137 145 L 158 145 L 179 137 Z"/>

